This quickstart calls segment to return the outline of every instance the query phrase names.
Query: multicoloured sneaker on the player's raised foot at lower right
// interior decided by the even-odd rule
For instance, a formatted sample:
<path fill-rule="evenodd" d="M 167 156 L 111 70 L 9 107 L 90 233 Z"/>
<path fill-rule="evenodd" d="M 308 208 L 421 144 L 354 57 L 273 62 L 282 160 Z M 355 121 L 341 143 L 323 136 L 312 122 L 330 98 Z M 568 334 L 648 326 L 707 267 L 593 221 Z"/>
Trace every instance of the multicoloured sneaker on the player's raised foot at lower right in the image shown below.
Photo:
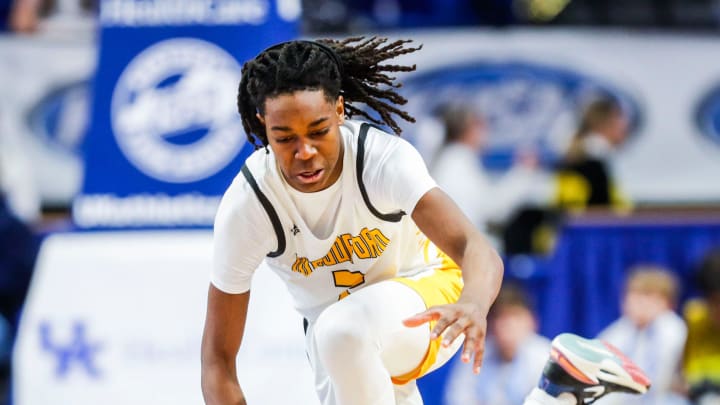
<path fill-rule="evenodd" d="M 568 392 L 578 404 L 591 404 L 611 392 L 644 394 L 650 379 L 609 343 L 563 333 L 552 341 L 539 387 L 554 397 Z"/>

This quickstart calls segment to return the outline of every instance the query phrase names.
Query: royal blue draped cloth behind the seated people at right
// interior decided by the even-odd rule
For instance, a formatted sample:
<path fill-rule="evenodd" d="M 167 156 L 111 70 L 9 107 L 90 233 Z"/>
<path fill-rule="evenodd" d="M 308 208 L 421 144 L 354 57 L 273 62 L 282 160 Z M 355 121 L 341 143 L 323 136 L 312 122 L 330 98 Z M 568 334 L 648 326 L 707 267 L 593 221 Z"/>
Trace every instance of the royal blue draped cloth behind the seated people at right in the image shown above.
<path fill-rule="evenodd" d="M 653 222 L 568 224 L 552 256 L 507 258 L 505 278 L 527 288 L 543 335 L 595 336 L 620 315 L 620 294 L 630 267 L 654 264 L 676 272 L 686 299 L 696 293 L 692 279 L 703 255 L 720 247 L 720 217 Z M 426 404 L 442 404 L 447 372 L 443 367 L 419 381 Z"/>

